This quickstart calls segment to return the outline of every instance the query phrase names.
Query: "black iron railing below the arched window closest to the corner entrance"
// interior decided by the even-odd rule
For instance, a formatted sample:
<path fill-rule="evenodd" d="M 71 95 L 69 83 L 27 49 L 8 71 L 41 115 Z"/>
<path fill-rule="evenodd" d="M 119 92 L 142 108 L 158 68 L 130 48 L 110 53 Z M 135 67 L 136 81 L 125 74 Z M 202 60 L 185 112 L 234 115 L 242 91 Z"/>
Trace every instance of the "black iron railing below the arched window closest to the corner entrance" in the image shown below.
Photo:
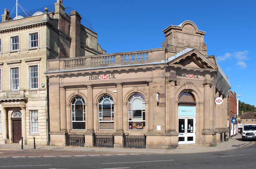
<path fill-rule="evenodd" d="M 146 135 L 144 136 L 130 136 L 124 135 L 124 148 L 146 148 Z"/>

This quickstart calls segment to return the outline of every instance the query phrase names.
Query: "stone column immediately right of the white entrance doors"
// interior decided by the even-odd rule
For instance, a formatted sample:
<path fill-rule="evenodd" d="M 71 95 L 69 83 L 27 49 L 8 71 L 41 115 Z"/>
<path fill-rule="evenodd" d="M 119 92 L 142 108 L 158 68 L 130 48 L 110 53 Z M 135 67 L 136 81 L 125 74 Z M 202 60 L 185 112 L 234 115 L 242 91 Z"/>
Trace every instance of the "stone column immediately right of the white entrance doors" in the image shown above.
<path fill-rule="evenodd" d="M 210 131 L 210 84 L 204 84 L 204 131 Z"/>

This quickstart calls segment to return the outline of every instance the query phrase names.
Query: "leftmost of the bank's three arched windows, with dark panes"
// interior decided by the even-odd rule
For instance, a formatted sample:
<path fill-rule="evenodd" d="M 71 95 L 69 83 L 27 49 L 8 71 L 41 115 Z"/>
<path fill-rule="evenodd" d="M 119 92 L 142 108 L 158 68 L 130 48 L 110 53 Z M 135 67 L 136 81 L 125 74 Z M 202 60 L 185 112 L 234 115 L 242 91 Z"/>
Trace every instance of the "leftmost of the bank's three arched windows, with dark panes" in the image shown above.
<path fill-rule="evenodd" d="M 72 129 L 85 129 L 85 105 L 84 99 L 77 96 L 72 104 Z"/>

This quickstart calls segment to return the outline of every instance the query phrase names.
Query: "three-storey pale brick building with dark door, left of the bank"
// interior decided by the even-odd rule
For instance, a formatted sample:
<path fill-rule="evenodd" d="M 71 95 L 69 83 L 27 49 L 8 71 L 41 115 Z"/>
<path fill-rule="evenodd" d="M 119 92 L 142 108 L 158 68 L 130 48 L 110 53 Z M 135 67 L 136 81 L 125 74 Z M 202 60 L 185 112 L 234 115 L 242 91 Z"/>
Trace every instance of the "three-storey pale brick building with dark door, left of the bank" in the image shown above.
<path fill-rule="evenodd" d="M 49 143 L 47 60 L 105 54 L 97 34 L 68 15 L 62 0 L 33 16 L 10 16 L 0 23 L 0 143 Z"/>

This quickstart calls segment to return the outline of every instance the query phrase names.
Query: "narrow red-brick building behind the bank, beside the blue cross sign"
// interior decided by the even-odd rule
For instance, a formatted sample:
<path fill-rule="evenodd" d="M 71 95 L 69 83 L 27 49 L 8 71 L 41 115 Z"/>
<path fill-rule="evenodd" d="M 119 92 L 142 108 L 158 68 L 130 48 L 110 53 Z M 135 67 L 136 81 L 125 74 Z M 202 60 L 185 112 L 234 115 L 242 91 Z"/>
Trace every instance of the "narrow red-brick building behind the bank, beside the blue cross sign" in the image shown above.
<path fill-rule="evenodd" d="M 237 103 L 236 103 L 236 93 L 228 91 L 228 128 L 229 128 L 229 137 L 234 136 L 237 133 L 237 124 L 232 124 L 231 119 L 237 117 Z"/>

